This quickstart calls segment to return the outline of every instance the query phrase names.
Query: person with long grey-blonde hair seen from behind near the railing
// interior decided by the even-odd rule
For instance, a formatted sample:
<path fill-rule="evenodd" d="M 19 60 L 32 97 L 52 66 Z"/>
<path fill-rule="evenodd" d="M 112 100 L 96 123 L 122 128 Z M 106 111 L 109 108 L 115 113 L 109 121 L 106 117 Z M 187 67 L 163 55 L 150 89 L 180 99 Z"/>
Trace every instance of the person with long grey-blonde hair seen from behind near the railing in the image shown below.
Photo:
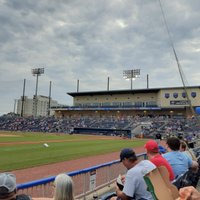
<path fill-rule="evenodd" d="M 53 200 L 74 200 L 74 183 L 67 174 L 58 174 L 53 187 Z M 34 198 L 33 200 L 50 200 L 50 198 Z"/>

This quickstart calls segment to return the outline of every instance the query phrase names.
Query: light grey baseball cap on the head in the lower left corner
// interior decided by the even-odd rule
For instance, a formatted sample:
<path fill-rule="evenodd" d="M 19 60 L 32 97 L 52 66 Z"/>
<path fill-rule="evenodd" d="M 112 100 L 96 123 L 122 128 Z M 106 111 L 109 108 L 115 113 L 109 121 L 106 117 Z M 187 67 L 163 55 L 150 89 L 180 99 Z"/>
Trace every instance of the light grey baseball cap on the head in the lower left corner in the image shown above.
<path fill-rule="evenodd" d="M 0 173 L 0 195 L 11 193 L 16 187 L 16 177 L 14 174 Z"/>

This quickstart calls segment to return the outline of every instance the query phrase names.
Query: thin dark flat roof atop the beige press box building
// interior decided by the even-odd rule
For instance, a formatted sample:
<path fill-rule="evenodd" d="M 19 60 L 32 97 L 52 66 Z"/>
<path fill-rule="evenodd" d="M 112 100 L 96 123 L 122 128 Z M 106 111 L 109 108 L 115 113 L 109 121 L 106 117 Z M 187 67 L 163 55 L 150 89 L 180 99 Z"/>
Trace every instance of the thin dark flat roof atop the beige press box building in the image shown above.
<path fill-rule="evenodd" d="M 188 86 L 187 88 L 200 88 L 200 86 Z M 112 94 L 137 94 L 137 93 L 157 93 L 162 89 L 183 89 L 183 87 L 166 87 L 166 88 L 145 88 L 145 89 L 132 89 L 132 90 L 105 90 L 105 91 L 87 91 L 87 92 L 68 92 L 67 94 L 76 96 L 88 95 L 112 95 Z"/>

